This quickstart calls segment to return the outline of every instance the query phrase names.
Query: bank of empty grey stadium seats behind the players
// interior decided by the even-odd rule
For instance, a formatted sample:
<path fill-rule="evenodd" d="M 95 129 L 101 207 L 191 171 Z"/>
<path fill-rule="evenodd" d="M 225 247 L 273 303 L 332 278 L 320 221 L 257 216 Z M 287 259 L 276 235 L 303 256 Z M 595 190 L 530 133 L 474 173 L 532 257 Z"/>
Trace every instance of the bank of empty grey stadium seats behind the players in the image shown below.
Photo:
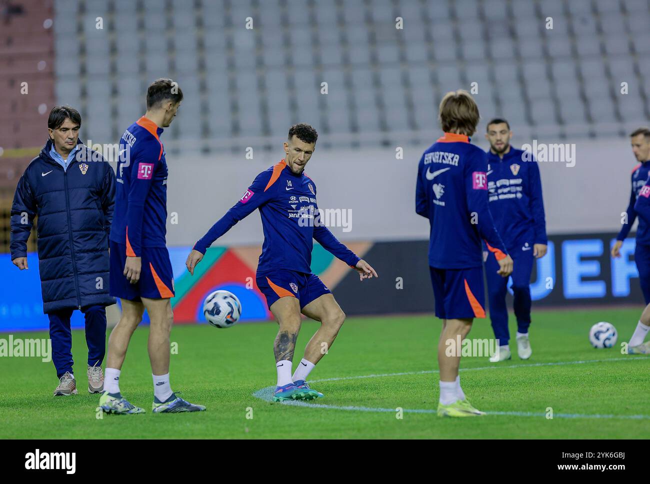
<path fill-rule="evenodd" d="M 556 124 L 558 133 L 578 133 L 571 125 L 581 123 L 591 123 L 590 133 L 612 132 L 612 124 L 623 131 L 648 109 L 646 0 L 211 0 L 169 10 L 60 0 L 53 9 L 57 102 L 83 107 L 93 136 L 132 122 L 142 90 L 163 76 L 184 79 L 183 113 L 192 113 L 173 133 L 209 136 L 208 146 L 233 134 L 272 136 L 298 118 L 378 142 L 413 123 L 432 129 L 440 97 L 471 83 L 481 112 L 510 116 L 519 132 L 550 133 Z M 404 29 L 395 29 L 396 16 Z M 242 28 L 247 17 L 252 30 Z M 29 75 L 34 66 L 12 68 Z M 116 119 L 92 118 L 96 98 L 113 92 Z"/>

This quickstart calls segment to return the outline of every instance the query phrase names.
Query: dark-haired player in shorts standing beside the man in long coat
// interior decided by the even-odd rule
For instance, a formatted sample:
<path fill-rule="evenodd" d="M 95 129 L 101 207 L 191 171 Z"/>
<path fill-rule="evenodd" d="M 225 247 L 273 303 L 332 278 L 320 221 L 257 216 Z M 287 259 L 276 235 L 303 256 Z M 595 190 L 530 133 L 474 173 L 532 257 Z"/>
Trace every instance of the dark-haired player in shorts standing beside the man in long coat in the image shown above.
<path fill-rule="evenodd" d="M 122 134 L 118 160 L 115 216 L 110 229 L 110 295 L 120 298 L 122 317 L 109 338 L 104 392 L 99 406 L 107 413 L 143 413 L 120 394 L 120 368 L 133 331 L 149 314 L 149 360 L 156 413 L 205 410 L 177 397 L 169 381 L 169 336 L 174 322 L 170 298 L 174 276 L 166 248 L 167 162 L 160 140 L 183 100 L 171 79 L 147 90 L 147 112 Z"/>

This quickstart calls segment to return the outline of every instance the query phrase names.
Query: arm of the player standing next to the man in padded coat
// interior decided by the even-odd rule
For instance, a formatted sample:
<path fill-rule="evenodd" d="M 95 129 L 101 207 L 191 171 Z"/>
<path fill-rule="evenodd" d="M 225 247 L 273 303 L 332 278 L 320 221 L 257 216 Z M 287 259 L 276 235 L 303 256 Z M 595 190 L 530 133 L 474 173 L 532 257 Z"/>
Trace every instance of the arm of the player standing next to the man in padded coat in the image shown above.
<path fill-rule="evenodd" d="M 134 150 L 135 151 L 135 150 Z M 136 153 L 131 152 L 131 186 L 126 210 L 126 262 L 123 274 L 131 284 L 140 280 L 142 269 L 142 221 L 144 220 L 144 204 L 149 190 L 153 173 L 158 166 L 161 152 L 160 144 L 149 142 L 144 144 Z"/>

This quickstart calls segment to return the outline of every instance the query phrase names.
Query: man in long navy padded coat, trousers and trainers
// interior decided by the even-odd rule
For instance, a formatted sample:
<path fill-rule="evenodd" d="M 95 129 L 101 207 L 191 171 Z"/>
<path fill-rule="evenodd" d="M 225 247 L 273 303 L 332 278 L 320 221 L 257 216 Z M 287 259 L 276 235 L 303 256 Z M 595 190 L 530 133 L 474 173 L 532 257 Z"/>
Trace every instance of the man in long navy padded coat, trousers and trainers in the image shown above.
<path fill-rule="evenodd" d="M 115 173 L 103 157 L 79 141 L 81 116 L 74 108 L 49 113 L 49 138 L 18 181 L 11 209 L 11 259 L 27 269 L 27 239 L 38 215 L 38 261 L 43 312 L 49 317 L 54 394 L 77 394 L 72 371 L 70 316 L 85 315 L 88 391 L 103 390 L 109 295 L 109 231 Z"/>

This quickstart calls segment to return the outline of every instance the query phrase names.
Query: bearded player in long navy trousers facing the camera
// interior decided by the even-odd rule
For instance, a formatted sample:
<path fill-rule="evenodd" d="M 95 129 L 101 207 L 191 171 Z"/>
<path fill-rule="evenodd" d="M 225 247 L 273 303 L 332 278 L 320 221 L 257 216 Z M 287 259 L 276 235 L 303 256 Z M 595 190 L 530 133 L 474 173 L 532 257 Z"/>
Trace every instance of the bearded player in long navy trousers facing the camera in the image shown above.
<path fill-rule="evenodd" d="M 530 274 L 535 259 L 547 250 L 544 202 L 536 160 L 524 161 L 524 151 L 510 146 L 512 131 L 500 118 L 487 123 L 487 191 L 495 226 L 513 260 L 512 292 L 517 318 L 517 354 L 527 360 L 532 354 L 528 340 L 530 326 Z M 506 292 L 508 279 L 496 274 L 499 265 L 486 254 L 487 298 L 492 329 L 499 340 L 493 363 L 511 358 Z"/>

